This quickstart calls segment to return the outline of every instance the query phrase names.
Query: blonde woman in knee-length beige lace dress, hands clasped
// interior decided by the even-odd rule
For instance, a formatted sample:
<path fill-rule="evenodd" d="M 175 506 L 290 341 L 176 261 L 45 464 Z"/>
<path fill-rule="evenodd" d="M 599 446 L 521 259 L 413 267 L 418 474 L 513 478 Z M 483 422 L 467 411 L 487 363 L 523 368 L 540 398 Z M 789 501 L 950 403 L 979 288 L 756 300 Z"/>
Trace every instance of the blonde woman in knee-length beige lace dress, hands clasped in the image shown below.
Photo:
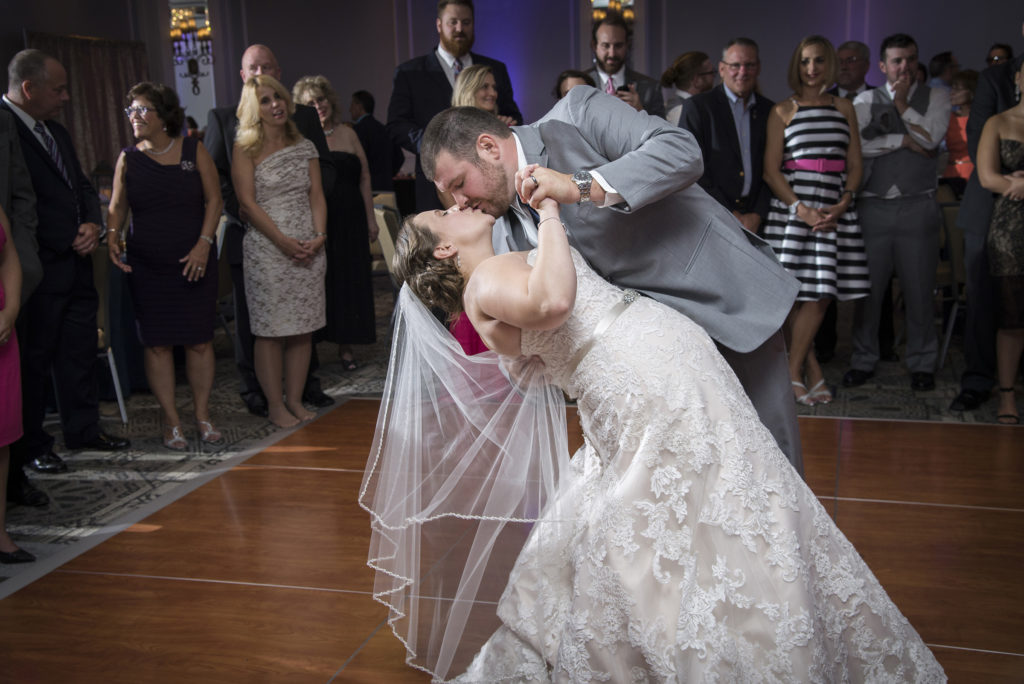
<path fill-rule="evenodd" d="M 302 386 L 312 333 L 326 323 L 327 205 L 316 148 L 299 134 L 294 111 L 275 79 L 249 79 L 239 102 L 231 161 L 231 181 L 248 225 L 243 271 L 256 377 L 270 421 L 281 427 L 315 417 L 302 405 Z"/>

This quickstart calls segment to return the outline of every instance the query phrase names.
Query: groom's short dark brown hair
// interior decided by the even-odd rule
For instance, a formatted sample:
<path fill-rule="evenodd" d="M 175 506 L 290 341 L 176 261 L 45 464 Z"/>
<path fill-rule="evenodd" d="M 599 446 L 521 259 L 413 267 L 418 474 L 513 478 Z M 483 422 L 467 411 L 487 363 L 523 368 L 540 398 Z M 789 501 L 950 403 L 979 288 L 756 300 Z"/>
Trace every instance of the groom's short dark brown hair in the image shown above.
<path fill-rule="evenodd" d="M 476 139 L 483 133 L 503 139 L 512 135 L 508 125 L 498 117 L 475 106 L 453 106 L 435 116 L 420 142 L 423 174 L 433 181 L 437 156 L 442 152 L 457 160 L 482 164 L 476 154 Z"/>

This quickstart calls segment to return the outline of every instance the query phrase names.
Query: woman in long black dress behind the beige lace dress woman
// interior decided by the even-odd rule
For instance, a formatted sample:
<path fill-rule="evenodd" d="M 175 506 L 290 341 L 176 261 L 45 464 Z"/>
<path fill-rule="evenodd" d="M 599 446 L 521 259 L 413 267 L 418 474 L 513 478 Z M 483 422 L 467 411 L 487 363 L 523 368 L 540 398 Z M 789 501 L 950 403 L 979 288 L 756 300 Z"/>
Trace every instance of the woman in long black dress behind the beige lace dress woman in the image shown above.
<path fill-rule="evenodd" d="M 317 339 L 338 345 L 343 371 L 358 368 L 353 344 L 377 341 L 370 243 L 377 240 L 370 165 L 355 131 L 341 123 L 338 95 L 323 76 L 292 88 L 299 104 L 316 110 L 337 177 L 327 198 L 327 327 Z"/>

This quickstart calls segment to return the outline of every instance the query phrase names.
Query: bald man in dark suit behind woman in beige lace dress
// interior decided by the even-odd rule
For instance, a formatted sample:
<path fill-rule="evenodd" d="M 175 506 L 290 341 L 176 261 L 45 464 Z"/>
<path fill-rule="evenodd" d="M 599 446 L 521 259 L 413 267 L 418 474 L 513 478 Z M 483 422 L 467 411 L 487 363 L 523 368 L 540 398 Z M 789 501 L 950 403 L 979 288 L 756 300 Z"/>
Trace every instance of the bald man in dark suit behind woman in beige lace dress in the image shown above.
<path fill-rule="evenodd" d="M 242 54 L 242 82 L 266 74 L 281 81 L 281 67 L 266 45 L 250 45 Z M 234 116 L 238 104 L 218 106 L 210 110 L 206 121 L 206 134 L 203 142 L 220 174 L 220 193 L 224 198 L 224 216 L 227 225 L 224 229 L 224 241 L 221 249 L 227 263 L 231 267 L 231 284 L 234 288 L 234 362 L 239 368 L 242 381 L 242 399 L 246 402 L 249 413 L 265 418 L 267 415 L 266 397 L 256 379 L 253 365 L 253 334 L 249 326 L 249 305 L 246 302 L 246 283 L 242 272 L 242 238 L 245 236 L 245 221 L 239 213 L 239 199 L 234 195 L 231 183 L 231 152 L 234 147 L 234 132 L 239 120 Z M 319 153 L 321 177 L 324 182 L 324 195 L 330 195 L 334 188 L 335 170 L 331 163 L 331 153 L 327 148 L 327 138 L 321 127 L 316 110 L 304 104 L 295 104 L 295 115 L 292 117 L 299 132 L 316 145 Z M 334 399 L 321 389 L 319 379 L 315 372 L 319 367 L 316 357 L 316 347 L 313 347 L 309 358 L 309 375 L 302 391 L 302 400 L 317 408 L 329 407 Z"/>

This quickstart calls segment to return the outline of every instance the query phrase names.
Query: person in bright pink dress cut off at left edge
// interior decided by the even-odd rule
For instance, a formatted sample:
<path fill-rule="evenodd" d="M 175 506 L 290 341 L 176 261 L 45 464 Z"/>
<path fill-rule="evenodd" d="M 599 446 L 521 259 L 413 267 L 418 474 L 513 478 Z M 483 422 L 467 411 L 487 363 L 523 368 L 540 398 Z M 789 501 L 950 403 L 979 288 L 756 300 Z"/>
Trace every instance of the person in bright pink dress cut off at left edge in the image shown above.
<path fill-rule="evenodd" d="M 22 297 L 22 265 L 10 238 L 10 221 L 0 207 L 0 563 L 36 559 L 7 533 L 7 468 L 10 444 L 22 436 L 22 371 L 14 322 Z"/>

